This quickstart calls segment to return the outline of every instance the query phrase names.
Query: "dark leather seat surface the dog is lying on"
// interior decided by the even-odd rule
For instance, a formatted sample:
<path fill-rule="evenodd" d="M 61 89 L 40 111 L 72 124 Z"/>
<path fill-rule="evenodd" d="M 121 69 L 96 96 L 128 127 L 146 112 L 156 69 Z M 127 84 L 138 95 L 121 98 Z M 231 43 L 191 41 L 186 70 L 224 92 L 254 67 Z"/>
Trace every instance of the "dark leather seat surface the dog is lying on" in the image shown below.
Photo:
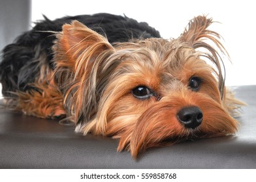
<path fill-rule="evenodd" d="M 256 168 L 256 85 L 235 92 L 248 104 L 236 135 L 148 149 L 137 161 L 116 152 L 118 140 L 2 108 L 0 168 Z"/>

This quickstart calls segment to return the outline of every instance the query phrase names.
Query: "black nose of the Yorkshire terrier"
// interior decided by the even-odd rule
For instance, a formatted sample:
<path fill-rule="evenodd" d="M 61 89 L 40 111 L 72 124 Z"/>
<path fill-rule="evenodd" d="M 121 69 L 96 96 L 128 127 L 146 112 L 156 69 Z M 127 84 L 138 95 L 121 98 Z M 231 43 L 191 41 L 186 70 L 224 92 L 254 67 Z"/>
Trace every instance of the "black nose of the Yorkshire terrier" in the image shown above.
<path fill-rule="evenodd" d="M 185 127 L 194 129 L 202 123 L 202 110 L 199 107 L 184 107 L 177 114 L 178 120 Z"/>

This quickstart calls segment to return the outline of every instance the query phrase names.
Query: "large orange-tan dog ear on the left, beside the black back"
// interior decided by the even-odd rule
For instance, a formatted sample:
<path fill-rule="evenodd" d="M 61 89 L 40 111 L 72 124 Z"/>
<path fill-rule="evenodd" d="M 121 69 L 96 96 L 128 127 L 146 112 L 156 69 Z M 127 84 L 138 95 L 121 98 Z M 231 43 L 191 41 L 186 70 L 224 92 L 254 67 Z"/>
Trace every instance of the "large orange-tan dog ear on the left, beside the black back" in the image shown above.
<path fill-rule="evenodd" d="M 104 36 L 78 21 L 63 25 L 63 31 L 56 36 L 53 47 L 56 83 L 74 122 L 87 122 L 97 112 L 110 74 L 102 73 L 104 62 L 114 48 Z"/>

